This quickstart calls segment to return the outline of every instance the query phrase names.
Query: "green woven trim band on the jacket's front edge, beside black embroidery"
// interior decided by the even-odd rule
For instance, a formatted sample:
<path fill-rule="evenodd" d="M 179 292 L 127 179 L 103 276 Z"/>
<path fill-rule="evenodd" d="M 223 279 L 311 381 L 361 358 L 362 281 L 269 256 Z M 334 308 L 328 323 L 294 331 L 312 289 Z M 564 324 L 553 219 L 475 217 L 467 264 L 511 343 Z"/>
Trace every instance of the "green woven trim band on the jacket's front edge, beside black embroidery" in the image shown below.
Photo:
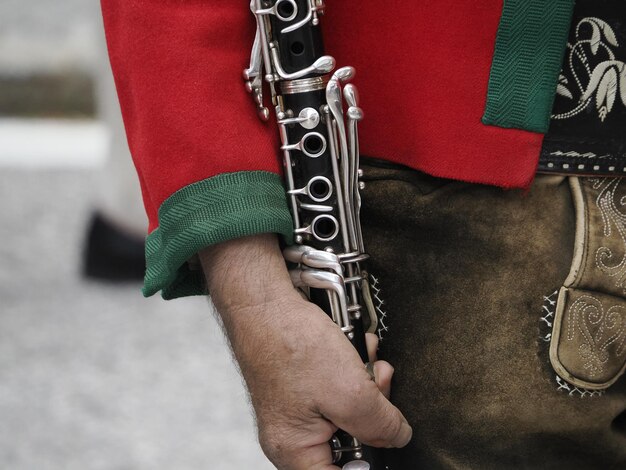
<path fill-rule="evenodd" d="M 484 124 L 548 131 L 573 10 L 574 0 L 504 0 Z"/>

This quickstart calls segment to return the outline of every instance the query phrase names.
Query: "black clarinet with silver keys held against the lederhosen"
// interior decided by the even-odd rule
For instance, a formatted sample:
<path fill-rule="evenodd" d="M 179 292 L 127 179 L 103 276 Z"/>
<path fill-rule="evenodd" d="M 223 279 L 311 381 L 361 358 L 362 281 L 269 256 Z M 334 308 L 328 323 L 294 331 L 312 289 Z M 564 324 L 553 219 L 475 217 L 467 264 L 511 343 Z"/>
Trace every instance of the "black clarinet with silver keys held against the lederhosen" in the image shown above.
<path fill-rule="evenodd" d="M 352 67 L 335 70 L 319 26 L 324 0 L 252 0 L 257 22 L 246 89 L 268 121 L 271 93 L 281 138 L 295 245 L 283 255 L 291 279 L 341 328 L 368 362 L 365 332 L 377 315 L 365 269 L 359 221 L 358 122 L 363 118 Z M 344 431 L 330 441 L 343 470 L 384 470 L 381 453 Z"/>

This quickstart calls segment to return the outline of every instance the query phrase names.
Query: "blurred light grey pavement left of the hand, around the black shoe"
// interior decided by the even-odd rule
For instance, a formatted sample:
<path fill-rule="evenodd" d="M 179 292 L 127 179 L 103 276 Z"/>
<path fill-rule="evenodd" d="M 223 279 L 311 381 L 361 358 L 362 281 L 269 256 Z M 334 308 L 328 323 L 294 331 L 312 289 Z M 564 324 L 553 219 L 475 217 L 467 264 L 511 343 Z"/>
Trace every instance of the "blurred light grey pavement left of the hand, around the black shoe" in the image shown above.
<path fill-rule="evenodd" d="M 273 468 L 206 299 L 79 276 L 96 176 L 0 168 L 0 468 Z"/>

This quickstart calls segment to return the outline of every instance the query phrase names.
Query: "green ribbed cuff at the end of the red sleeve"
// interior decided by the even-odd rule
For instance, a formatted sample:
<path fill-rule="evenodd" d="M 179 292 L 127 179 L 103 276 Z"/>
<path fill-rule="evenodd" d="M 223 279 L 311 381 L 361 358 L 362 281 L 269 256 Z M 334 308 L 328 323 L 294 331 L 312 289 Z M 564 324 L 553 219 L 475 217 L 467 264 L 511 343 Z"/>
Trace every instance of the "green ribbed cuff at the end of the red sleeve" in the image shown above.
<path fill-rule="evenodd" d="M 188 261 L 207 246 L 257 233 L 279 233 L 292 242 L 293 221 L 278 175 L 225 173 L 182 188 L 161 205 L 159 228 L 146 239 L 143 294 L 206 294 L 202 270 Z"/>

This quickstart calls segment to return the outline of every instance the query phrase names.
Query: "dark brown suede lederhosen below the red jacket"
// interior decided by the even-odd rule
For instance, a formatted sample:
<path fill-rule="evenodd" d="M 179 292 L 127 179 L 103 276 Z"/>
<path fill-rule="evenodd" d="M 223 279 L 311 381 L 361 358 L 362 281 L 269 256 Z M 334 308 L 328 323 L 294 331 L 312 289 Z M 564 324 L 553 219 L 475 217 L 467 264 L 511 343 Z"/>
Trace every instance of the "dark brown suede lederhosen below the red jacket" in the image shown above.
<path fill-rule="evenodd" d="M 550 361 L 558 292 L 569 289 L 565 309 L 595 302 L 583 297 L 588 285 L 564 287 L 576 242 L 570 179 L 539 176 L 525 194 L 375 165 L 364 166 L 363 223 L 385 300 L 380 354 L 395 367 L 392 399 L 414 429 L 391 468 L 626 468 L 626 380 L 588 391 Z M 583 184 L 626 197 L 626 181 L 597 181 Z M 594 295 L 599 309 L 621 315 L 626 300 L 614 294 Z M 574 340 L 564 354 L 585 344 Z M 584 372 L 580 364 L 573 370 Z"/>

